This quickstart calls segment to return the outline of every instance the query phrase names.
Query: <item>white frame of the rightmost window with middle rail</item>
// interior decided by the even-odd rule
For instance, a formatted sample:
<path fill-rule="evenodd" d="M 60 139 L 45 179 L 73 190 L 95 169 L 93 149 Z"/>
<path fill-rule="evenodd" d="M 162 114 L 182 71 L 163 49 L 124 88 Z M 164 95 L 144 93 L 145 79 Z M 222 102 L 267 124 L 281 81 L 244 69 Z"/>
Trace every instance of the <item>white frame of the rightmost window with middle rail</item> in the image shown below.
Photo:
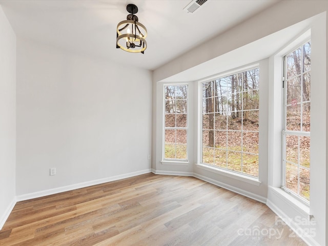
<path fill-rule="evenodd" d="M 292 130 L 286 130 L 286 117 L 287 117 L 287 62 L 286 62 L 286 57 L 291 54 L 292 52 L 294 52 L 295 50 L 297 50 L 298 48 L 302 48 L 306 43 L 311 42 L 311 37 L 307 37 L 305 39 L 302 39 L 301 42 L 297 42 L 295 43 L 295 45 L 293 46 L 292 49 L 290 49 L 288 52 L 286 52 L 284 55 L 282 55 L 282 110 L 281 110 L 281 186 L 280 188 L 288 193 L 289 195 L 291 195 L 293 198 L 295 198 L 296 200 L 300 201 L 302 204 L 305 204 L 305 206 L 310 206 L 310 199 L 311 199 L 311 194 L 310 194 L 310 198 L 309 200 L 303 198 L 302 196 L 300 196 L 299 194 L 296 194 L 295 192 L 293 192 L 291 189 L 287 188 L 285 186 L 286 184 L 286 174 L 285 174 L 285 163 L 288 162 L 286 160 L 286 136 L 305 136 L 305 137 L 310 137 L 311 139 L 311 129 L 310 131 L 301 131 L 302 129 L 300 129 L 300 131 L 292 131 Z M 312 49 L 312 46 L 311 46 Z M 303 50 L 302 50 L 302 55 L 303 55 Z M 303 66 L 303 65 L 302 65 Z M 311 74 L 311 68 L 309 71 L 306 72 L 301 72 L 301 76 L 305 73 L 310 72 Z M 311 75 L 310 75 L 311 76 Z M 296 76 L 297 77 L 297 76 Z M 301 83 L 301 87 L 302 83 Z M 310 79 L 310 87 L 311 87 L 311 79 Z M 311 90 L 310 90 L 310 95 L 311 95 Z M 303 102 L 303 95 L 301 93 L 301 103 L 300 104 L 304 104 Z M 310 96 L 310 100 L 306 101 L 306 103 L 310 102 L 311 104 L 311 96 Z M 302 114 L 302 112 L 301 112 Z M 302 120 L 302 117 L 301 117 Z M 301 121 L 302 122 L 302 121 Z M 310 111 L 310 124 L 311 124 L 311 111 Z M 311 140 L 310 140 L 311 141 Z M 310 146 L 311 148 L 311 146 Z M 310 149 L 310 153 L 311 153 L 311 149 Z M 297 163 L 297 174 L 298 174 L 298 182 L 297 182 L 297 189 L 298 189 L 298 193 L 300 191 L 300 187 L 299 187 L 299 168 L 300 168 L 300 160 L 299 160 L 299 156 L 300 156 L 300 148 L 298 147 L 298 163 Z M 310 160 L 311 161 L 311 160 Z M 294 163 L 292 163 L 292 165 L 294 165 Z M 308 168 L 309 171 L 311 172 L 311 163 L 310 163 L 310 168 Z M 311 187 L 311 179 L 310 179 L 310 187 Z M 309 191 L 310 192 L 310 191 Z"/>

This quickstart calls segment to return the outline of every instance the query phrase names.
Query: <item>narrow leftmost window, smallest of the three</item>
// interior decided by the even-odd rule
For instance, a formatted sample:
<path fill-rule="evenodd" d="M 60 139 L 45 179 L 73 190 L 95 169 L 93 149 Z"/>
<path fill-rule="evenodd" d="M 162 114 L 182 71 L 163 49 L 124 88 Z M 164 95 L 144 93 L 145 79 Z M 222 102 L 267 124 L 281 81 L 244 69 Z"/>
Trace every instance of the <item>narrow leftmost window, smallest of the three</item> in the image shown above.
<path fill-rule="evenodd" d="M 164 160 L 187 161 L 188 86 L 164 86 Z"/>

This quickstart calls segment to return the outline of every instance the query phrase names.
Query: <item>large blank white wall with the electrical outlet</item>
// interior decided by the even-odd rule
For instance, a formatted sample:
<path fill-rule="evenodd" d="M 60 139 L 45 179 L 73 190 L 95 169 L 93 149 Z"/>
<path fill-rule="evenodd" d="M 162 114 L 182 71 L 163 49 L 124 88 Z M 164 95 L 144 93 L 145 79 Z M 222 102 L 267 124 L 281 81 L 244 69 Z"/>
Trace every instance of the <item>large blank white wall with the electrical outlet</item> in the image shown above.
<path fill-rule="evenodd" d="M 150 172 L 151 83 L 128 63 L 18 39 L 18 200 Z"/>

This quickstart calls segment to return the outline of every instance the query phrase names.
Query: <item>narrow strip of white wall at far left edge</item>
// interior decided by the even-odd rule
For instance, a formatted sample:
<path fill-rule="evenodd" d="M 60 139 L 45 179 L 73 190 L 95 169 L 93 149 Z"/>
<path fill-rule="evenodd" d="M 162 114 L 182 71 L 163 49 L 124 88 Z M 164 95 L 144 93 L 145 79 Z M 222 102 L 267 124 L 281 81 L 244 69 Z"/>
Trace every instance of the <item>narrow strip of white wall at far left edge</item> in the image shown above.
<path fill-rule="evenodd" d="M 0 230 L 15 204 L 16 35 L 0 7 Z"/>

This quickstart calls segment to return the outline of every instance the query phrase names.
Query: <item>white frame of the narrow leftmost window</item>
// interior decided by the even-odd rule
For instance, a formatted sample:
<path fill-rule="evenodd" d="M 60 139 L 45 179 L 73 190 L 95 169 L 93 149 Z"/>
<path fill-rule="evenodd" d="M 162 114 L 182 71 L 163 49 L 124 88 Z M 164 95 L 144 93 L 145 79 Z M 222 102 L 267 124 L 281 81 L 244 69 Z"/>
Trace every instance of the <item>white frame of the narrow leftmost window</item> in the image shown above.
<path fill-rule="evenodd" d="M 165 115 L 166 115 L 166 91 L 165 88 L 167 86 L 186 86 L 187 87 L 187 127 L 166 127 L 165 126 Z M 162 95 L 163 95 L 163 99 L 162 99 L 162 158 L 161 158 L 161 163 L 165 163 L 168 165 L 188 165 L 189 164 L 189 84 L 188 83 L 166 83 L 162 85 Z M 176 114 L 176 113 L 175 113 Z M 176 120 L 176 119 L 175 119 Z M 176 121 L 175 121 L 176 122 Z M 186 130 L 186 134 L 187 134 L 187 142 L 186 142 L 186 159 L 178 159 L 178 158 L 165 158 L 165 130 Z M 176 156 L 176 153 L 175 153 Z"/>

